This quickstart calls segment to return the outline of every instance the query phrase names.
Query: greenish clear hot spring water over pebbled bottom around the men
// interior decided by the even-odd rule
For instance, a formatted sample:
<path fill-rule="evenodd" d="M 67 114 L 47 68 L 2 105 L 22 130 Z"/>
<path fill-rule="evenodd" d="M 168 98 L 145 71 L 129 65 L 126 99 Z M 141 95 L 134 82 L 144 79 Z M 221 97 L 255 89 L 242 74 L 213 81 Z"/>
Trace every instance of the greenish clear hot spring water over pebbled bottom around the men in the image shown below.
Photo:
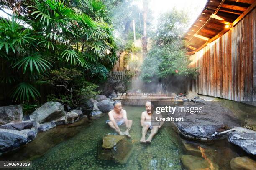
<path fill-rule="evenodd" d="M 105 115 L 98 120 L 62 125 L 39 133 L 37 138 L 18 150 L 0 157 L 3 160 L 32 161 L 35 170 L 182 170 L 182 155 L 193 155 L 193 166 L 207 164 L 214 169 L 230 169 L 230 160 L 239 156 L 226 140 L 195 143 L 184 140 L 170 126 L 163 126 L 151 144 L 141 144 L 141 112 L 144 107 L 124 106 L 128 119 L 133 120 L 130 131 L 133 153 L 126 164 L 98 160 L 97 143 L 105 134 L 115 133 L 108 127 Z M 123 128 L 123 129 L 122 129 Z M 125 126 L 121 130 L 125 130 Z M 225 159 L 223 159 L 225 158 Z M 194 161 L 194 162 L 195 162 Z M 200 167 L 204 168 L 204 167 Z"/>

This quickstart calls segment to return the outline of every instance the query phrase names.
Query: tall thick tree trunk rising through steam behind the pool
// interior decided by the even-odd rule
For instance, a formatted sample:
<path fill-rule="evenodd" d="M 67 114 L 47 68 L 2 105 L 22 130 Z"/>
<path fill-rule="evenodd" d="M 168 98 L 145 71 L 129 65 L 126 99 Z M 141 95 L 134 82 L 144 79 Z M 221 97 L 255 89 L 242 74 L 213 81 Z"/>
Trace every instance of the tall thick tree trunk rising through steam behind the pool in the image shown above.
<path fill-rule="evenodd" d="M 142 56 L 146 58 L 148 53 L 148 37 L 147 37 L 147 15 L 148 15 L 148 1 L 143 0 L 143 37 L 142 37 Z"/>

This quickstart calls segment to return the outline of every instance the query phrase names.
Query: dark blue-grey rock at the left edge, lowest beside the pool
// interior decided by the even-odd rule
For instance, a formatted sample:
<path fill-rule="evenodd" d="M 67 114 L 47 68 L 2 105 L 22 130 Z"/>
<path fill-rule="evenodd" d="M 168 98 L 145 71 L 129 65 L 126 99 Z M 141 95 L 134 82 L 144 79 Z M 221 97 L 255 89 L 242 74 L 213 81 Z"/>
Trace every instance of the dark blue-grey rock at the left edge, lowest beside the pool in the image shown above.
<path fill-rule="evenodd" d="M 37 130 L 34 128 L 21 131 L 0 129 L 0 153 L 19 148 L 20 145 L 24 145 L 36 138 L 36 135 Z"/>

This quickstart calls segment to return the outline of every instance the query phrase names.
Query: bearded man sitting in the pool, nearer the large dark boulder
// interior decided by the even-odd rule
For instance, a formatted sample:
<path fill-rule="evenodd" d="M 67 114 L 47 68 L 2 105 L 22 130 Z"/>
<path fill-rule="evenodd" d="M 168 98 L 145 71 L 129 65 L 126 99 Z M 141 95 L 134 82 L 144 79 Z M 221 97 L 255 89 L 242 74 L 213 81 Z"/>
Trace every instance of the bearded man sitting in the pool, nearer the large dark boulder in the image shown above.
<path fill-rule="evenodd" d="M 141 126 L 142 126 L 142 136 L 141 136 L 141 143 L 151 143 L 152 138 L 156 135 L 158 129 L 161 127 L 162 123 L 159 126 L 152 126 L 151 125 L 151 102 L 147 101 L 145 104 L 146 111 L 141 113 Z M 152 108 L 153 109 L 153 108 Z M 147 130 L 151 129 L 151 133 L 146 140 L 146 133 Z"/>

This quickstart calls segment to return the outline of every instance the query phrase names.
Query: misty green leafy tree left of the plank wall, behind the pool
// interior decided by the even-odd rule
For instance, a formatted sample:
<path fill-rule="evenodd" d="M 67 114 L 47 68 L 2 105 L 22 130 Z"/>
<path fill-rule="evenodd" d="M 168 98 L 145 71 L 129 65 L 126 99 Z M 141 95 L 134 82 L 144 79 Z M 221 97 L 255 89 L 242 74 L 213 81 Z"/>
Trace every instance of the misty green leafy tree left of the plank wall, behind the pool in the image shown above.
<path fill-rule="evenodd" d="M 196 68 L 188 67 L 190 61 L 182 40 L 185 29 L 188 28 L 187 18 L 187 13 L 175 9 L 160 17 L 151 50 L 141 66 L 144 81 L 151 82 L 168 75 L 197 75 Z"/>

